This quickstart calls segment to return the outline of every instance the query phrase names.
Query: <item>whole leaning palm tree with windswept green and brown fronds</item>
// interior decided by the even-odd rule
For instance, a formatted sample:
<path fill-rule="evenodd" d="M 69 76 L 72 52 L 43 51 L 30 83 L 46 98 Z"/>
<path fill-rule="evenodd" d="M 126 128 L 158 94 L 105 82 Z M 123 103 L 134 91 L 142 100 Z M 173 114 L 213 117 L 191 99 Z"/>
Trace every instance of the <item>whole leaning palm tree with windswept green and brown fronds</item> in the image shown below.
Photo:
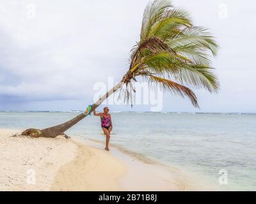
<path fill-rule="evenodd" d="M 131 99 L 132 82 L 138 77 L 161 84 L 164 91 L 186 96 L 198 107 L 195 93 L 188 87 L 218 91 L 219 82 L 211 67 L 211 57 L 217 51 L 214 37 L 204 27 L 194 26 L 187 11 L 173 7 L 170 0 L 152 1 L 145 8 L 140 41 L 131 50 L 127 73 L 92 105 L 90 112 L 118 90 L 125 93 L 125 99 Z M 27 129 L 22 135 L 51 138 L 63 135 L 90 112 L 51 128 Z"/>

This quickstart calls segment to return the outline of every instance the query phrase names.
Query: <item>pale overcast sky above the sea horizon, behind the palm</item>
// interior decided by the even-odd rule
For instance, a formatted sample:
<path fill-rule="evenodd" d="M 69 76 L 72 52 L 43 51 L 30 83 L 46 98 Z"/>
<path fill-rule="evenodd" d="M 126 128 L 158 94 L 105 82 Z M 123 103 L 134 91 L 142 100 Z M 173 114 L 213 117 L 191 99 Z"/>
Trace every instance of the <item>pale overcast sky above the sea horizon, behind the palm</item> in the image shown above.
<path fill-rule="evenodd" d="M 9 1 L 0 3 L 0 110 L 83 110 L 93 85 L 118 82 L 139 40 L 148 0 Z M 198 91 L 200 110 L 164 94 L 164 112 L 256 112 L 252 0 L 173 0 L 208 27 L 221 50 L 212 61 L 219 94 Z M 149 106 L 110 106 L 148 111 Z"/>

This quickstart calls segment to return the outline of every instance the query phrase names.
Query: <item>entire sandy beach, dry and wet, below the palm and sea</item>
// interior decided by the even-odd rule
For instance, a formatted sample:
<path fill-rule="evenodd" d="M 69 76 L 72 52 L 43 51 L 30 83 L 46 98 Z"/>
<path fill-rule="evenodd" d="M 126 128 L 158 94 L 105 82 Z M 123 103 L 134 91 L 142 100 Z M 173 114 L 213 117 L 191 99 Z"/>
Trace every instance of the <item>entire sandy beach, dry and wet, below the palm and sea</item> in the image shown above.
<path fill-rule="evenodd" d="M 102 144 L 58 138 L 11 138 L 0 129 L 0 191 L 210 190 L 177 168 L 138 161 Z"/>

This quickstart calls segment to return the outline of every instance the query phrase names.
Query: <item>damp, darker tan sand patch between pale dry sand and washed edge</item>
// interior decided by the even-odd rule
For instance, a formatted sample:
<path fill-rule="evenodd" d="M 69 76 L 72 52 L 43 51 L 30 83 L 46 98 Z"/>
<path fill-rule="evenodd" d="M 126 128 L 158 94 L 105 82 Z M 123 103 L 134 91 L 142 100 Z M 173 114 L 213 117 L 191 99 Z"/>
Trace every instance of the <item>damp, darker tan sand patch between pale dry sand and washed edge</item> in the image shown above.
<path fill-rule="evenodd" d="M 120 191 L 125 165 L 106 150 L 72 143 L 77 145 L 76 157 L 58 170 L 51 191 Z"/>

